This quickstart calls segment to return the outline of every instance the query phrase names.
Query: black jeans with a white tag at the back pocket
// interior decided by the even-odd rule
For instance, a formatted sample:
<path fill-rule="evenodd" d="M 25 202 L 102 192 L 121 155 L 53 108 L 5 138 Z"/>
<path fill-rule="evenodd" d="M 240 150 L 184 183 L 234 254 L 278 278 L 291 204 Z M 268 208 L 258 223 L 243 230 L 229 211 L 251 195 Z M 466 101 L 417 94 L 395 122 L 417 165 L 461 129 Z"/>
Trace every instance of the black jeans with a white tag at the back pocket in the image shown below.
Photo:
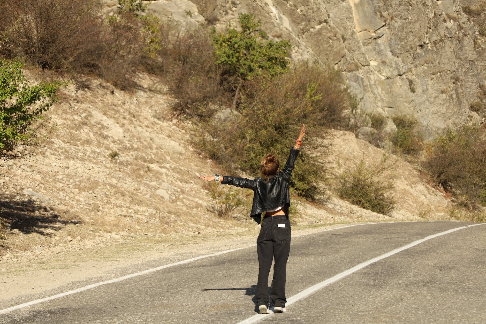
<path fill-rule="evenodd" d="M 278 226 L 280 224 L 280 226 Z M 283 226 L 283 227 L 282 227 Z M 267 216 L 261 222 L 257 239 L 257 253 L 260 270 L 258 271 L 257 306 L 269 306 L 268 272 L 275 257 L 274 277 L 270 297 L 274 306 L 284 307 L 287 259 L 290 252 L 290 221 L 285 215 Z"/>

